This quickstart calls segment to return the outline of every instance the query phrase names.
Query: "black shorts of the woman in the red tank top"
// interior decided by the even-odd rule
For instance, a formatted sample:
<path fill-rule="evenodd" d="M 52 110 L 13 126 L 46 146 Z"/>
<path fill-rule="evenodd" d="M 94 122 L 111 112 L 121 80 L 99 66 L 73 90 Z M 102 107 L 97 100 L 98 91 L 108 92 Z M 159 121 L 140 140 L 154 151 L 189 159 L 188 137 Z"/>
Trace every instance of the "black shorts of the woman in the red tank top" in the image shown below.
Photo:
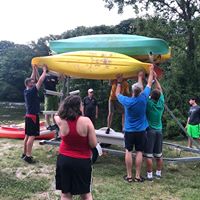
<path fill-rule="evenodd" d="M 56 189 L 62 193 L 86 194 L 91 192 L 91 159 L 71 158 L 58 155 Z"/>

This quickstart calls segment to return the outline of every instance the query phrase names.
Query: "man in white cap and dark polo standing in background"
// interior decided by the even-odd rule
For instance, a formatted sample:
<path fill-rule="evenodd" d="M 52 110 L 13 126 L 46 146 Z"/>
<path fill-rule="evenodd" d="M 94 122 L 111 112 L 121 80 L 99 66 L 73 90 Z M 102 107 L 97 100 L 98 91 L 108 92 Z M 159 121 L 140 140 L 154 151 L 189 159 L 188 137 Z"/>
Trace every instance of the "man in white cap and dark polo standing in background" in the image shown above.
<path fill-rule="evenodd" d="M 84 116 L 89 117 L 95 125 L 95 120 L 98 118 L 98 103 L 92 88 L 88 90 L 88 96 L 83 99 L 83 112 Z"/>

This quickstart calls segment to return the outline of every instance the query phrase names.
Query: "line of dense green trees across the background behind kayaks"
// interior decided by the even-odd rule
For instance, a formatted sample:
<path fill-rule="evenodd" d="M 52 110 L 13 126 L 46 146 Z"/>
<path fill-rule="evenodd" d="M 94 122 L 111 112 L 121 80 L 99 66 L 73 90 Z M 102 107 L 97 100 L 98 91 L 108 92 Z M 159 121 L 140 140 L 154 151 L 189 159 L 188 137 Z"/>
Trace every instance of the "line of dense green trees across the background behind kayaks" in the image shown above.
<path fill-rule="evenodd" d="M 104 1 L 107 2 L 109 9 L 117 4 L 119 12 L 123 11 L 124 6 L 133 4 L 133 9 L 137 11 L 141 2 L 136 0 Z M 160 65 L 164 70 L 161 84 L 167 105 L 184 124 L 189 108 L 189 98 L 200 97 L 200 2 L 149 0 L 142 2 L 142 6 L 151 5 L 155 8 L 156 15 L 147 14 L 142 18 L 127 19 L 116 26 L 80 26 L 61 35 L 40 38 L 37 42 L 31 42 L 28 45 L 0 41 L 0 101 L 23 101 L 24 79 L 31 74 L 31 59 L 35 56 L 48 55 L 50 40 L 91 34 L 136 34 L 162 38 L 171 46 L 172 58 Z M 178 7 L 175 3 L 181 5 Z M 99 126 L 106 125 L 110 90 L 108 81 L 70 80 L 70 90 L 81 89 L 82 97 L 87 94 L 89 87 L 95 90 L 101 107 Z M 85 90 L 83 91 L 82 88 Z M 115 118 L 115 126 L 119 124 L 119 120 L 118 117 Z M 180 134 L 178 126 L 167 113 L 164 115 L 164 125 L 169 136 Z M 117 128 L 120 127 L 117 126 Z"/>

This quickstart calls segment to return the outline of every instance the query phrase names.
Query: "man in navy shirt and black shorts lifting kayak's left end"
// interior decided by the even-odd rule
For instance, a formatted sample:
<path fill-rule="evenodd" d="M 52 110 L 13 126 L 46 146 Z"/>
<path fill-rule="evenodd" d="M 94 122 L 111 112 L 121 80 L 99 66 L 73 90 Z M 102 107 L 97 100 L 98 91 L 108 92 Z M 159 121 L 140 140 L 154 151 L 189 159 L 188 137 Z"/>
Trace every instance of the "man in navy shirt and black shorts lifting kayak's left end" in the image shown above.
<path fill-rule="evenodd" d="M 39 77 L 36 83 L 37 66 L 32 66 L 33 71 L 30 78 L 26 78 L 24 83 L 26 89 L 24 90 L 24 100 L 26 107 L 25 115 L 25 138 L 24 138 L 24 152 L 22 159 L 27 163 L 34 163 L 32 158 L 32 147 L 35 137 L 40 134 L 39 125 L 39 112 L 40 112 L 40 100 L 38 91 L 45 79 L 47 68 L 43 66 L 43 73 Z"/>

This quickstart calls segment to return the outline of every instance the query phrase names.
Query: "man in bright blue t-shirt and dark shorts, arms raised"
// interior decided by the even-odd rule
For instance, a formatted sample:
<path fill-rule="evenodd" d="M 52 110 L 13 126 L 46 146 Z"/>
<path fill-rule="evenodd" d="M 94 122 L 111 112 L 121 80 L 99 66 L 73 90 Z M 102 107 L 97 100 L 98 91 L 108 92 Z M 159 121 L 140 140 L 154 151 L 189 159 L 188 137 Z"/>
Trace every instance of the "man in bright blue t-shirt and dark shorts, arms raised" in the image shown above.
<path fill-rule="evenodd" d="M 146 128 L 148 122 L 146 118 L 146 105 L 150 95 L 151 85 L 153 81 L 153 69 L 154 66 L 150 66 L 150 73 L 148 77 L 148 83 L 143 90 L 143 72 L 138 74 L 138 82 L 132 85 L 132 97 L 123 96 L 120 94 L 121 91 L 121 80 L 122 76 L 118 77 L 118 84 L 116 89 L 116 96 L 118 101 L 125 108 L 125 125 L 124 125 L 124 139 L 125 139 L 125 163 L 127 175 L 124 176 L 124 180 L 127 182 L 143 182 L 144 179 L 140 176 L 141 165 L 142 165 L 142 153 L 144 151 L 144 143 L 146 138 Z M 133 145 L 135 146 L 136 157 L 136 173 L 135 178 L 132 179 L 132 150 Z"/>

